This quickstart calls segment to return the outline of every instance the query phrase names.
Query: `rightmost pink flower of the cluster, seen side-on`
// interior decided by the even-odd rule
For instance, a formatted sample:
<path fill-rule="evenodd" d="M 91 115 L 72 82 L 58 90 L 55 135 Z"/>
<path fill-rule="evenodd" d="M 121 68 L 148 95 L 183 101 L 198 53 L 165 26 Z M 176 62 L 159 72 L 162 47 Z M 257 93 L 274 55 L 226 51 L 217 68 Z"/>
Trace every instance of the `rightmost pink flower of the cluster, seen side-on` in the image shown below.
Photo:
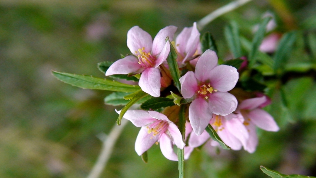
<path fill-rule="evenodd" d="M 243 116 L 243 124 L 249 132 L 249 139 L 244 147 L 249 153 L 253 153 L 258 144 L 256 126 L 271 132 L 277 132 L 279 130 L 273 117 L 261 109 L 266 103 L 269 103 L 269 98 L 263 95 L 257 98 L 246 99 L 242 101 L 237 108 L 237 112 Z"/>

